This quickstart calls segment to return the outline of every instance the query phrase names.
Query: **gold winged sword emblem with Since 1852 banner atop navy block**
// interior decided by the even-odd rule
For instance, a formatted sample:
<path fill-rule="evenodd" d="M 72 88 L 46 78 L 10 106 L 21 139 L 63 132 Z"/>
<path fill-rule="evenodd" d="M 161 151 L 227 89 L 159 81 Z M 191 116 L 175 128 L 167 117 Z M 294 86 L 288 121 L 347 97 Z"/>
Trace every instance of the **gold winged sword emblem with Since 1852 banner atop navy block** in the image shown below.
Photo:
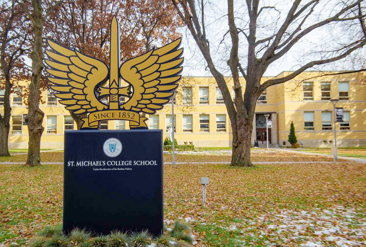
<path fill-rule="evenodd" d="M 98 128 L 101 120 L 128 120 L 131 128 L 147 128 L 141 112 L 153 114 L 168 103 L 183 67 L 181 39 L 121 64 L 117 18 L 111 21 L 109 67 L 103 61 L 48 40 L 47 77 L 55 96 L 74 114 L 87 114 L 81 129 Z M 121 78 L 126 86 L 121 86 Z M 109 86 L 104 84 L 109 80 Z M 123 103 L 120 97 L 127 100 Z M 102 99 L 107 99 L 102 101 Z"/>

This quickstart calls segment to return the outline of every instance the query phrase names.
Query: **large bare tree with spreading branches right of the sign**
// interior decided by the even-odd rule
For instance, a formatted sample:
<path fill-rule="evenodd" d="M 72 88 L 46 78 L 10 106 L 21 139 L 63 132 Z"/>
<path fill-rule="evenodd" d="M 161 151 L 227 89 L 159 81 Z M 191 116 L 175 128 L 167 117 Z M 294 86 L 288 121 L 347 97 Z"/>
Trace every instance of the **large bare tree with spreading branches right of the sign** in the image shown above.
<path fill-rule="evenodd" d="M 201 51 L 207 66 L 214 76 L 231 121 L 233 130 L 232 160 L 231 165 L 252 166 L 250 162 L 250 137 L 253 128 L 253 117 L 255 105 L 261 93 L 271 85 L 292 80 L 306 69 L 317 65 L 331 63 L 352 52 L 364 47 L 365 37 L 365 14 L 362 12 L 362 0 L 338 1 L 329 6 L 332 1 L 321 0 L 293 0 L 284 18 L 274 18 L 270 11 L 280 12 L 276 6 L 260 5 L 259 0 L 246 0 L 240 9 L 234 8 L 234 1 L 227 0 L 227 32 L 230 34 L 231 42 L 228 45 L 227 65 L 234 81 L 235 101 L 230 98 L 229 89 L 225 83 L 224 75 L 219 71 L 219 65 L 214 62 L 212 49 L 209 42 L 207 24 L 205 23 L 206 1 L 195 0 L 172 0 L 179 16 L 190 30 L 195 42 Z M 319 7 L 319 4 L 323 8 Z M 320 4 L 320 5 L 321 5 Z M 211 2 L 208 2 L 211 6 Z M 316 9 L 317 8 L 317 9 Z M 324 9 L 329 10 L 325 15 Z M 317 11 L 316 11 L 317 10 Z M 320 20 L 319 20 L 320 19 Z M 237 26 L 237 22 L 241 27 Z M 262 84 L 260 80 L 268 69 L 268 66 L 288 54 L 291 49 L 304 37 L 314 31 L 338 23 L 347 23 L 348 27 L 356 30 L 347 42 L 335 42 L 338 47 L 332 50 L 320 50 L 317 52 L 319 58 L 303 62 L 295 71 L 282 77 L 269 79 Z M 267 27 L 271 33 L 257 39 L 259 31 Z M 270 27 L 270 28 L 268 28 Z M 306 45 L 306 44 L 305 44 Z M 310 44 L 307 44 L 310 45 Z M 323 46 L 328 45 L 322 43 Z M 316 52 L 316 50 L 313 50 Z M 244 53 L 244 55 L 243 55 Z M 239 77 L 245 79 L 244 94 L 242 92 Z"/>

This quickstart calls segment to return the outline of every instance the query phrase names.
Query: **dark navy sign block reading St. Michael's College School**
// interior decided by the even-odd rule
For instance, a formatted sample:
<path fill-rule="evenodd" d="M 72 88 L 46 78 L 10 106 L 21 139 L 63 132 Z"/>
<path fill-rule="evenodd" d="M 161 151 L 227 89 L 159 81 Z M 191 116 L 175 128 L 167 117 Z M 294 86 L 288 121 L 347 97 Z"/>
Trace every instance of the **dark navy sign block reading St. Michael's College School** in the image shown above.
<path fill-rule="evenodd" d="M 66 131 L 63 227 L 162 233 L 162 131 Z"/>

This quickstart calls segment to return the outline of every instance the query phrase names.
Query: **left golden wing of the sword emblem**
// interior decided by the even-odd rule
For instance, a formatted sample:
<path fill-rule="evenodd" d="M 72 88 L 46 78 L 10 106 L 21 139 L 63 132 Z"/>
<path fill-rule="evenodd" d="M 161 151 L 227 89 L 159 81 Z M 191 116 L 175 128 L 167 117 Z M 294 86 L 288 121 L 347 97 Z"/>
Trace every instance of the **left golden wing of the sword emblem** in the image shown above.
<path fill-rule="evenodd" d="M 108 108 L 96 97 L 95 87 L 108 79 L 108 66 L 93 57 L 69 50 L 47 40 L 49 59 L 45 59 L 55 96 L 75 114 Z"/>

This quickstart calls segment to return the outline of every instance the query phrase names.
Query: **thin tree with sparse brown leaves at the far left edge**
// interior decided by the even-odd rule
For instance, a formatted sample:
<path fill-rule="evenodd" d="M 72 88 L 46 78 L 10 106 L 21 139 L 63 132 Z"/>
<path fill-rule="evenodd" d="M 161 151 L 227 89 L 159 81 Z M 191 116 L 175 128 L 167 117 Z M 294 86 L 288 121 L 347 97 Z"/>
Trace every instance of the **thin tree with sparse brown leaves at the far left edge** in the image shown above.
<path fill-rule="evenodd" d="M 13 85 L 24 79 L 23 55 L 29 48 L 29 23 L 15 0 L 3 2 L 0 13 L 0 88 L 4 90 L 4 113 L 0 114 L 0 156 L 10 156 L 10 93 Z"/>

